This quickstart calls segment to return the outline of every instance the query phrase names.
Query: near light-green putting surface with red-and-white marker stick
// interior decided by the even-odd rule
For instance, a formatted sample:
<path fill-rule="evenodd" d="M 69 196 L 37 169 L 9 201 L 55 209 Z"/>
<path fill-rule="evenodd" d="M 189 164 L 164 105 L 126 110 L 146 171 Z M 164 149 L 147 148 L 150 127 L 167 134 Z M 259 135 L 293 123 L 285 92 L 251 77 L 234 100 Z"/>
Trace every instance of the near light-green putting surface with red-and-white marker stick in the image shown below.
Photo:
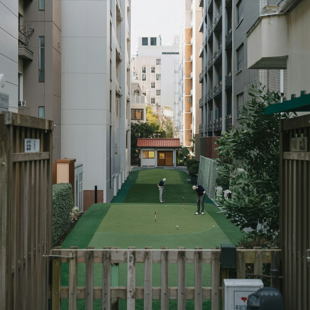
<path fill-rule="evenodd" d="M 182 204 L 166 203 L 113 204 L 97 232 L 193 234 L 214 229 L 213 226 L 218 227 L 207 212 L 204 215 L 194 215 L 196 209 L 196 205 L 184 205 L 183 209 Z"/>

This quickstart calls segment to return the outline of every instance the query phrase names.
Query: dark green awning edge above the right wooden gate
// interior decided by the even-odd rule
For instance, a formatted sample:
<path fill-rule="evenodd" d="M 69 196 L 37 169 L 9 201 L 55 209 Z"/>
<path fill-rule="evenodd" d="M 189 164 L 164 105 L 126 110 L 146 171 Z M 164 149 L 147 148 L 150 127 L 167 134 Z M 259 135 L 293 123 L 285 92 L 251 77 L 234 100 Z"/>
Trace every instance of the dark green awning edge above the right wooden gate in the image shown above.
<path fill-rule="evenodd" d="M 310 111 L 310 94 L 303 95 L 281 103 L 272 104 L 264 108 L 264 114 L 279 112 L 308 112 Z"/>

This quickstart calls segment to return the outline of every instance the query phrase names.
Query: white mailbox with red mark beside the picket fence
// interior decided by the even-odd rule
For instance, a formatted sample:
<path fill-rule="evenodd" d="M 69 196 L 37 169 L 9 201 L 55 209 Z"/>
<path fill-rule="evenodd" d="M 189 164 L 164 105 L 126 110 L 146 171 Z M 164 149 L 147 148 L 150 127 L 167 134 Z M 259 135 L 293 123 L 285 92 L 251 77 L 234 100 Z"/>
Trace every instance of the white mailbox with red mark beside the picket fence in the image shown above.
<path fill-rule="evenodd" d="M 224 279 L 224 310 L 247 309 L 248 296 L 264 287 L 259 279 Z"/>

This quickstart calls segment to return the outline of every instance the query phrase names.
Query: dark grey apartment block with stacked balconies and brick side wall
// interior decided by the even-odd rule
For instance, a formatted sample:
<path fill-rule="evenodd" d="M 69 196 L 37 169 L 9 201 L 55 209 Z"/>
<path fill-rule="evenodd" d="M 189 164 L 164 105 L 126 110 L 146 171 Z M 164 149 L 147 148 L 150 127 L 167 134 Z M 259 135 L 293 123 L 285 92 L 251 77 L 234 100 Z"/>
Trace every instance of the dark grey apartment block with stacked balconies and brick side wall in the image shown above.
<path fill-rule="evenodd" d="M 196 155 L 207 156 L 208 144 L 233 126 L 239 126 L 244 104 L 250 100 L 248 89 L 259 82 L 266 88 L 286 93 L 286 71 L 281 68 L 247 68 L 247 31 L 266 5 L 277 0 L 198 0 L 203 19 L 203 43 L 199 80 L 202 84 L 199 107 L 201 125 L 196 135 Z"/>

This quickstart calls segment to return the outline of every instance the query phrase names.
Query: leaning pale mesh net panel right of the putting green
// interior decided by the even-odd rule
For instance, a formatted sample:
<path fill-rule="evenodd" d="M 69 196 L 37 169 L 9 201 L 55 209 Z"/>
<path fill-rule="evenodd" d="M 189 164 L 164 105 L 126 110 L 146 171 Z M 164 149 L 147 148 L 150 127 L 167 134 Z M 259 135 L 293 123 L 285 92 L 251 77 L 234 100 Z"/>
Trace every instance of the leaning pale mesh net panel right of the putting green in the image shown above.
<path fill-rule="evenodd" d="M 210 199 L 214 198 L 217 179 L 217 162 L 200 155 L 198 185 L 201 185 Z"/>

